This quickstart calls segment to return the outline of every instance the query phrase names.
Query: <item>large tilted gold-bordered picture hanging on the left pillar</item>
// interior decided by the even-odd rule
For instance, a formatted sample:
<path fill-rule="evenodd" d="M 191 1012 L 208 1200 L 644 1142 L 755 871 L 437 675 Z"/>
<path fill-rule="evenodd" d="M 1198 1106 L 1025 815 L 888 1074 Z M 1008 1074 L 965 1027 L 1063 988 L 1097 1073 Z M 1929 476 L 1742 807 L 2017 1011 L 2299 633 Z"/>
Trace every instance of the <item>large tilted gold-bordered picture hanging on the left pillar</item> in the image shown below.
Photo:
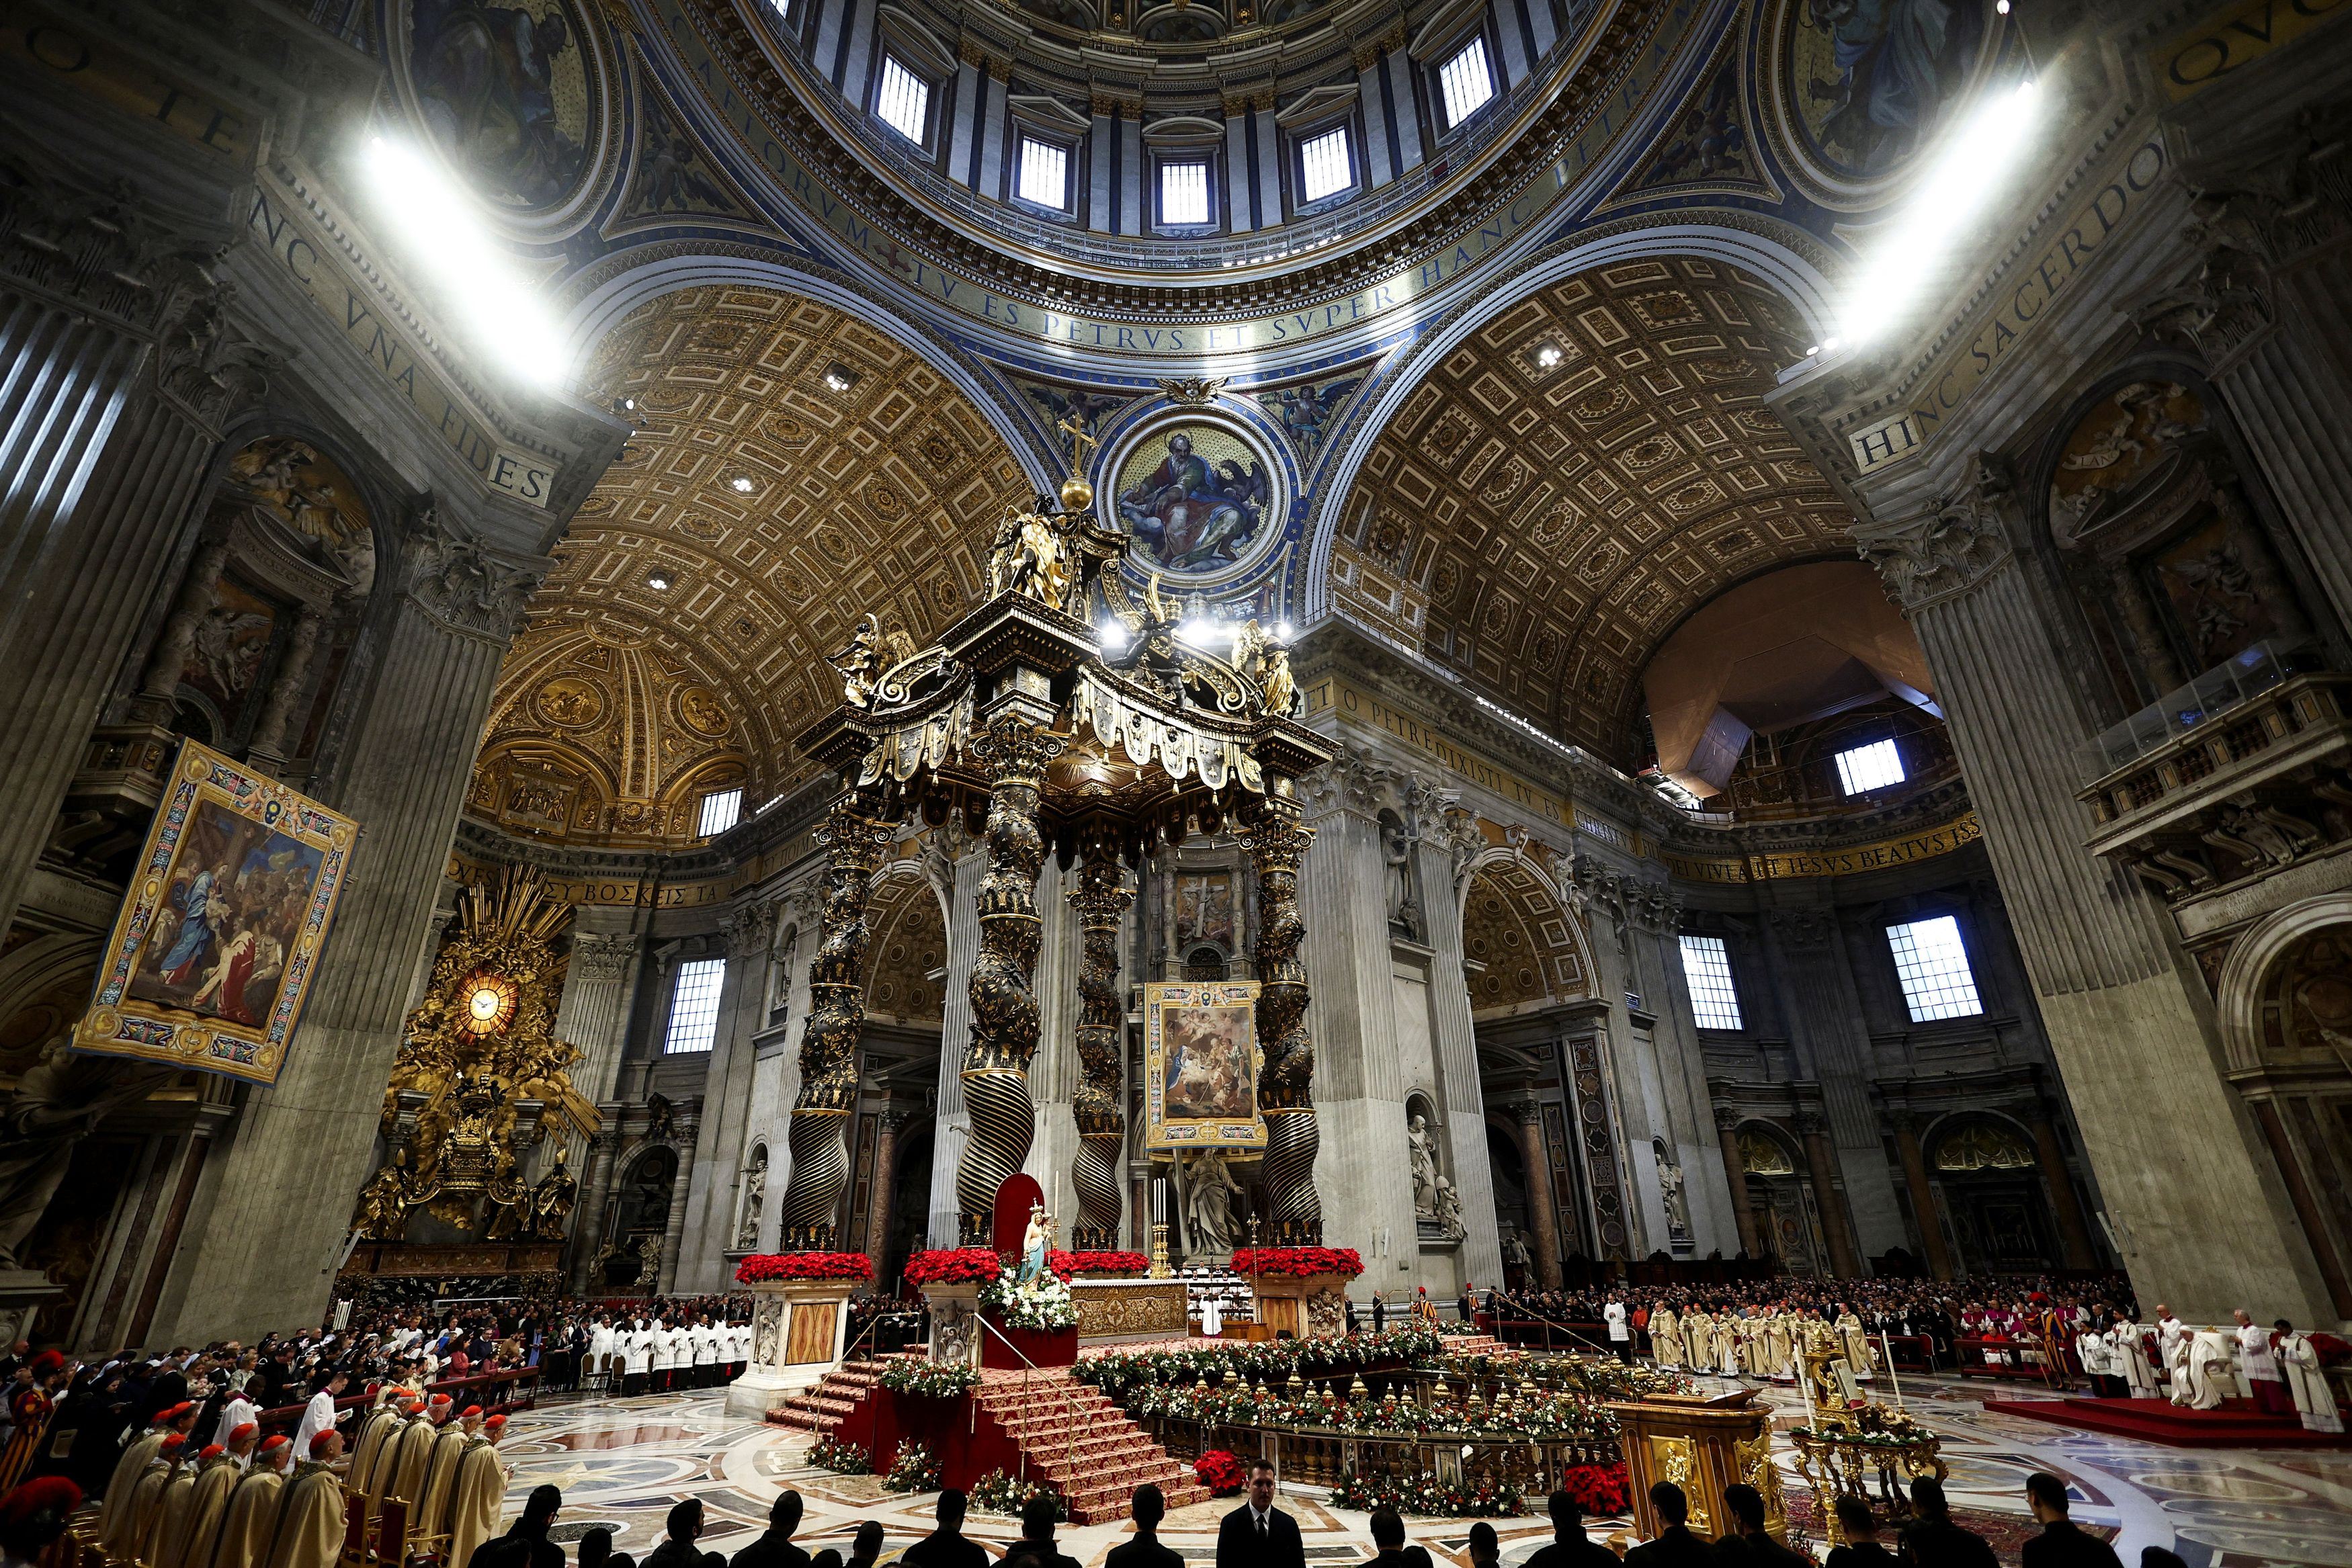
<path fill-rule="evenodd" d="M 275 1084 L 360 825 L 183 741 L 73 1048 Z"/>

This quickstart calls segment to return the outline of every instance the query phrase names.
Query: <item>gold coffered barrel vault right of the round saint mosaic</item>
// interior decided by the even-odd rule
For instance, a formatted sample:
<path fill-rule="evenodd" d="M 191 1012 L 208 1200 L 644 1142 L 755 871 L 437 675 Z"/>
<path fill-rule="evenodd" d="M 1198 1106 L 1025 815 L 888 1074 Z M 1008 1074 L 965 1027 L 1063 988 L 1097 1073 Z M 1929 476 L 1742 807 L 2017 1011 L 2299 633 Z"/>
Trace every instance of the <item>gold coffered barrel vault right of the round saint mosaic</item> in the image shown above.
<path fill-rule="evenodd" d="M 1780 416 L 1792 313 L 1719 261 L 1597 268 L 1498 313 L 1381 430 L 1331 604 L 1564 741 L 1632 759 L 1639 672 L 1693 607 L 1851 555 Z"/>

